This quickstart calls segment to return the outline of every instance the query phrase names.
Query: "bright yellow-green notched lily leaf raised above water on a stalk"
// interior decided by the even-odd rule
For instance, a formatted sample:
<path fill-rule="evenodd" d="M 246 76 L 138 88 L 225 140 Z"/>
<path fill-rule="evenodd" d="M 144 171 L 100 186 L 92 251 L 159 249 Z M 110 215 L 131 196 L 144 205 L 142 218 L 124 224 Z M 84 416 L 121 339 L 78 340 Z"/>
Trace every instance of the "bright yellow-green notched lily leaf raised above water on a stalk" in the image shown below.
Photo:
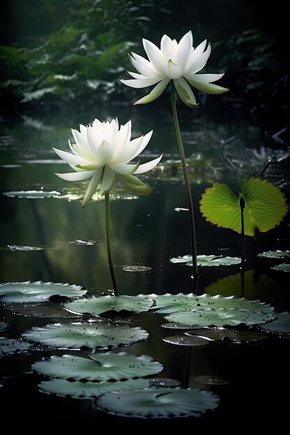
<path fill-rule="evenodd" d="M 241 180 L 239 197 L 225 183 L 214 183 L 202 194 L 200 212 L 217 227 L 241 233 L 241 198 L 245 202 L 243 218 L 246 236 L 273 229 L 280 224 L 289 208 L 280 188 L 266 180 L 250 178 Z"/>

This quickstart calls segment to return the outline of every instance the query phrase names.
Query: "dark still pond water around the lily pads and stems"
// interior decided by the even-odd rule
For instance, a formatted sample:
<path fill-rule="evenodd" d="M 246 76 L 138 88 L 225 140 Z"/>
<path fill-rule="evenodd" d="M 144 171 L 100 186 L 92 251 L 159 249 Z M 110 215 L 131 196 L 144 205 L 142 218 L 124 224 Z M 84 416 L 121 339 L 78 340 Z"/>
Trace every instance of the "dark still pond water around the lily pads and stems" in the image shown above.
<path fill-rule="evenodd" d="M 191 267 L 170 262 L 170 258 L 190 253 L 188 217 L 182 210 L 186 208 L 186 197 L 170 116 L 151 106 L 131 109 L 131 112 L 124 107 L 114 109 L 113 114 L 106 109 L 102 113 L 97 110 L 96 116 L 100 120 L 118 116 L 122 124 L 132 118 L 133 137 L 154 129 L 143 162 L 163 152 L 159 167 L 140 177 L 150 183 L 152 194 L 130 197 L 118 188 L 111 202 L 113 260 L 120 293 L 177 295 L 195 291 L 198 295 L 241 297 L 239 264 L 200 266 L 198 286 L 193 288 Z M 206 109 L 190 115 L 188 111 L 181 117 L 181 129 L 186 156 L 190 157 L 188 170 L 198 254 L 239 257 L 239 234 L 206 222 L 198 201 L 214 181 L 225 182 L 239 192 L 240 179 L 253 174 L 259 177 L 272 151 L 261 148 L 259 129 L 235 113 L 213 117 Z M 70 129 L 77 128 L 79 123 L 92 122 L 93 117 L 81 113 L 77 120 L 67 120 L 64 116 L 40 120 L 36 114 L 30 114 L 0 124 L 2 283 L 69 283 L 88 290 L 86 296 L 109 293 L 104 201 L 92 201 L 81 208 L 86 182 L 68 183 L 58 179 L 54 172 L 67 172 L 67 167 L 51 149 L 65 149 Z M 279 167 L 270 166 L 265 174 L 268 181 L 275 183 L 287 180 Z M 285 193 L 289 196 L 289 190 Z M 288 218 L 268 233 L 246 237 L 243 295 L 271 304 L 275 312 L 282 313 L 290 309 L 287 272 L 271 267 L 289 261 L 257 256 L 277 249 L 289 249 Z M 16 350 L 3 345 L 0 355 L 2 422 L 10 411 L 7 422 L 13 428 L 38 432 L 41 429 L 36 427 L 38 420 L 45 429 L 67 433 L 82 429 L 99 431 L 100 425 L 102 430 L 105 427 L 108 431 L 135 431 L 140 424 L 145 429 L 160 427 L 167 431 L 180 427 L 227 430 L 231 425 L 232 432 L 241 427 L 248 429 L 252 422 L 259 428 L 267 427 L 269 422 L 280 425 L 287 420 L 288 400 L 284 398 L 289 388 L 287 334 L 267 333 L 264 340 L 236 343 L 227 339 L 187 347 L 163 340 L 177 333 L 184 334 L 182 329 L 164 327 L 164 315 L 152 311 L 106 315 L 113 321 L 141 327 L 149 334 L 138 343 L 113 347 L 112 352 L 151 356 L 163 364 L 163 370 L 152 376 L 154 379 L 174 379 L 186 388 L 212 391 L 220 399 L 216 409 L 198 418 L 140 419 L 101 411 L 92 398 L 77 399 L 39 391 L 38 384 L 45 377 L 31 368 L 35 361 L 52 355 L 86 356 L 89 351 L 33 344 L 24 340 L 22 333 L 34 326 L 96 318 L 73 315 L 58 300 L 36 304 L 2 302 L 0 313 L 1 336 L 16 340 Z M 239 325 L 234 329 L 261 332 L 255 326 Z"/>

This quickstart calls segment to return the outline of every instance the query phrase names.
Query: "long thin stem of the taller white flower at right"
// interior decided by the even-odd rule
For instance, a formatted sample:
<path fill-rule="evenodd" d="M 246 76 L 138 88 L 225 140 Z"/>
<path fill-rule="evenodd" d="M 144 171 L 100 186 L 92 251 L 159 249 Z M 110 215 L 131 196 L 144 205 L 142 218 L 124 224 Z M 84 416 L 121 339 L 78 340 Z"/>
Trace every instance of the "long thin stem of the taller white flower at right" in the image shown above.
<path fill-rule="evenodd" d="M 175 126 L 175 134 L 177 137 L 177 145 L 179 149 L 180 160 L 182 162 L 182 170 L 184 174 L 184 186 L 186 190 L 186 199 L 188 205 L 188 216 L 189 225 L 191 231 L 191 255 L 193 257 L 193 278 L 198 278 L 198 254 L 196 250 L 196 238 L 195 238 L 195 222 L 194 222 L 194 212 L 193 212 L 193 199 L 191 196 L 191 185 L 188 179 L 188 171 L 186 165 L 186 159 L 184 154 L 184 146 L 182 142 L 182 135 L 180 133 L 177 108 L 176 108 L 176 97 L 175 97 L 175 87 L 173 81 L 171 81 L 171 104 L 172 104 L 172 115 L 173 122 Z"/>

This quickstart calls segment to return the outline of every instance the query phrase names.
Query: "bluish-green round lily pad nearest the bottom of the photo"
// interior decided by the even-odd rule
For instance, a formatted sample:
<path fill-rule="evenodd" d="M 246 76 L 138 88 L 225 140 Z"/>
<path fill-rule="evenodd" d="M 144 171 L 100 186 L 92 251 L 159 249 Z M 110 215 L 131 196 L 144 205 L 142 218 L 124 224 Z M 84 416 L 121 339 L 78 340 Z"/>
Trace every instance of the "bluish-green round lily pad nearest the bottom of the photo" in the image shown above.
<path fill-rule="evenodd" d="M 210 391 L 150 387 L 106 393 L 97 399 L 97 407 L 118 416 L 172 418 L 200 416 L 216 409 L 219 402 L 218 395 Z"/>

